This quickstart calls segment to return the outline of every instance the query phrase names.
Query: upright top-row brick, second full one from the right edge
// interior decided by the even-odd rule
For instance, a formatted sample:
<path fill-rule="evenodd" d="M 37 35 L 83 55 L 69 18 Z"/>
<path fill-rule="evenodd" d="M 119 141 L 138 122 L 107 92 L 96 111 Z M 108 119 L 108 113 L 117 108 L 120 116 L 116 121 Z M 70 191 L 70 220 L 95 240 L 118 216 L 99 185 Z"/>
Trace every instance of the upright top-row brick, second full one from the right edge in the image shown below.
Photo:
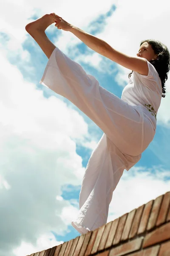
<path fill-rule="evenodd" d="M 152 229 L 156 225 L 156 220 L 159 215 L 162 199 L 163 199 L 163 195 L 160 195 L 159 197 L 157 197 L 155 199 L 155 201 L 153 203 L 152 211 L 151 211 L 150 218 L 149 218 L 149 221 L 147 224 L 147 231 Z"/>

